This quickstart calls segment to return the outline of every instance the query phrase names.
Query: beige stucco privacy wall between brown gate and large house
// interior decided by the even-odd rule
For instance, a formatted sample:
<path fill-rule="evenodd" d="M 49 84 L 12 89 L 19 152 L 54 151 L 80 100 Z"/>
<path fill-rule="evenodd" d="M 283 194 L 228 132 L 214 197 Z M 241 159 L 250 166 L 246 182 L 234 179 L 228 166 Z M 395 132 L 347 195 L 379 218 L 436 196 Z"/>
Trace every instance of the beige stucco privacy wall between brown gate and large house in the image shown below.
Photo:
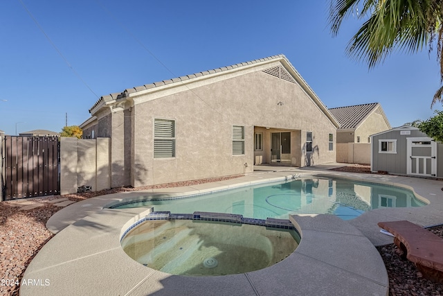
<path fill-rule="evenodd" d="M 109 143 L 109 138 L 60 138 L 60 194 L 83 185 L 92 191 L 110 188 Z"/>

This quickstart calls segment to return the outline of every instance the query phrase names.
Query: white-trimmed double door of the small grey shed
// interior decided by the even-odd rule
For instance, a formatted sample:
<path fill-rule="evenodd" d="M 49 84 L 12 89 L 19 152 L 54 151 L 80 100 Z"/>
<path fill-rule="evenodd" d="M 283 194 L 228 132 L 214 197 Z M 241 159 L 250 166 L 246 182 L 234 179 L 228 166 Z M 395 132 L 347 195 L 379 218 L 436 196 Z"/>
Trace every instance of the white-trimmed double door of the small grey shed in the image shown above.
<path fill-rule="evenodd" d="M 437 143 L 431 138 L 408 138 L 408 175 L 435 176 Z"/>

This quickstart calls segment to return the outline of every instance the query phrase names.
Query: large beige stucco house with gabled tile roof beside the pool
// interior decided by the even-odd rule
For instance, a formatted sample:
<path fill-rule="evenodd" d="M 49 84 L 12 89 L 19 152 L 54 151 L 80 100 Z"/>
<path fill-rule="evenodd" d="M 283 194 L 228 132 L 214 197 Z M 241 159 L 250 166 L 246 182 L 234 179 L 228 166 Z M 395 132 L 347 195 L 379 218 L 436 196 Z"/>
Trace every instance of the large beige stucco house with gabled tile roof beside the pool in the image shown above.
<path fill-rule="evenodd" d="M 111 186 L 335 162 L 334 119 L 284 55 L 102 96 L 80 128 L 108 137 Z"/>

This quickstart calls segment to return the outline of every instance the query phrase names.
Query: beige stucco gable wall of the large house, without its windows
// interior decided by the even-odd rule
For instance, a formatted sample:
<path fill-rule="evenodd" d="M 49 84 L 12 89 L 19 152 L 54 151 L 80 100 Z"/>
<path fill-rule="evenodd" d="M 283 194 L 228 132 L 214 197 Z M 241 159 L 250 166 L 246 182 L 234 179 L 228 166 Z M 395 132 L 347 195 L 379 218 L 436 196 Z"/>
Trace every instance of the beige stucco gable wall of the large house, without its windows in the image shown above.
<path fill-rule="evenodd" d="M 150 101 L 152 96 L 133 98 L 133 186 L 251 172 L 255 127 L 291 130 L 293 165 L 335 161 L 335 150 L 328 151 L 329 133 L 336 137 L 334 124 L 299 85 L 262 71 L 175 93 L 168 89 L 165 96 L 155 94 L 159 98 Z M 153 158 L 154 118 L 176 121 L 176 157 Z M 233 125 L 245 128 L 244 155 L 232 155 Z M 307 131 L 313 132 L 314 153 L 305 152 Z M 113 130 L 113 141 L 114 137 Z M 266 141 L 269 135 L 264 146 Z M 112 153 L 115 159 L 114 146 Z"/>

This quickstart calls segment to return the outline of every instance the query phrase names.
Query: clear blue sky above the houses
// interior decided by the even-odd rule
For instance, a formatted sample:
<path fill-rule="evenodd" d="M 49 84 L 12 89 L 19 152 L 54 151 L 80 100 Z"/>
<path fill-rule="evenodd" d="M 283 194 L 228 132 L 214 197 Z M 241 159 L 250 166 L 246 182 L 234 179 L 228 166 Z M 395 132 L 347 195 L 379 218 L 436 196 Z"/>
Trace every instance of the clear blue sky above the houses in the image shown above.
<path fill-rule="evenodd" d="M 440 86 L 435 51 L 395 53 L 372 70 L 348 58 L 361 21 L 332 37 L 327 0 L 3 0 L 0 11 L 6 134 L 60 132 L 66 113 L 80 125 L 100 96 L 280 53 L 327 107 L 379 102 L 393 127 L 433 116 Z"/>

